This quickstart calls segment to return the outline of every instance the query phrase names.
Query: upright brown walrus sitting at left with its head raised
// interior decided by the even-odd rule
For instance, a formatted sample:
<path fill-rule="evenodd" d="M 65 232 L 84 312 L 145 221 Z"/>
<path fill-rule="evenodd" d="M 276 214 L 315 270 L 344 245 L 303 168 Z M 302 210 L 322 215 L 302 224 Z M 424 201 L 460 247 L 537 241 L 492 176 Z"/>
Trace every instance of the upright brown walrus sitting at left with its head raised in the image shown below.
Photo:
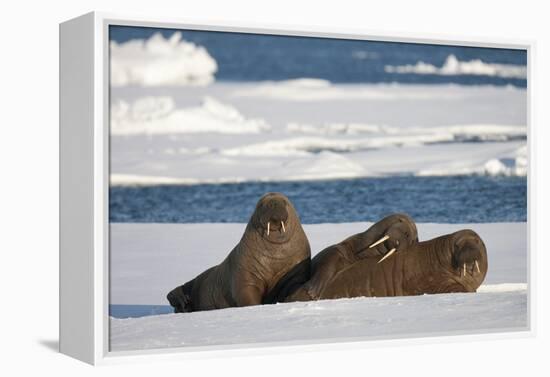
<path fill-rule="evenodd" d="M 306 282 L 309 241 L 288 198 L 265 194 L 227 258 L 168 293 L 176 313 L 272 303 Z"/>

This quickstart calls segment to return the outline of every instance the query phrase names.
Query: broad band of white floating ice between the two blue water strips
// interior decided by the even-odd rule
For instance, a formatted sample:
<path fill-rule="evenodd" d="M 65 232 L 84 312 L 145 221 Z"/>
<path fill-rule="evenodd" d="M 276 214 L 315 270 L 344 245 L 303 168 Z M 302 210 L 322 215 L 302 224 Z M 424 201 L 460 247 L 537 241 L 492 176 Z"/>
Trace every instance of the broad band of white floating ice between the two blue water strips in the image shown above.
<path fill-rule="evenodd" d="M 112 185 L 528 170 L 520 88 L 298 79 L 111 95 Z"/>

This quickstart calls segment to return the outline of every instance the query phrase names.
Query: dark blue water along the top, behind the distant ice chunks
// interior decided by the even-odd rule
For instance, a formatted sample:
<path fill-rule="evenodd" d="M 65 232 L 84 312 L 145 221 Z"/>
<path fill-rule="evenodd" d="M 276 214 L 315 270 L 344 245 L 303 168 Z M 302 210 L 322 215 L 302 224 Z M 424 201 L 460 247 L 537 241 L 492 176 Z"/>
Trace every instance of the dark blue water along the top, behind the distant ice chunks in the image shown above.
<path fill-rule="evenodd" d="M 111 26 L 116 42 L 146 39 L 156 32 L 165 37 L 177 30 Z M 449 55 L 460 61 L 526 65 L 525 50 L 457 47 L 418 43 L 290 37 L 246 33 L 182 30 L 183 39 L 204 46 L 217 61 L 219 81 L 263 81 L 320 78 L 333 83 L 417 83 L 526 86 L 521 78 L 482 75 L 425 75 L 386 72 L 386 65 L 419 61 L 441 67 Z"/>

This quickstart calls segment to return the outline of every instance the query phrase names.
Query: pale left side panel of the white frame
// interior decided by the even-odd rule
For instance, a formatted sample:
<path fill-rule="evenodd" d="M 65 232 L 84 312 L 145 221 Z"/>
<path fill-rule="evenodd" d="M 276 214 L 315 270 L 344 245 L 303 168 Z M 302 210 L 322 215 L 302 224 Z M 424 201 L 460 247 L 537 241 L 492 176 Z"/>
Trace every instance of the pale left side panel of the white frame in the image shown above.
<path fill-rule="evenodd" d="M 93 363 L 93 16 L 59 28 L 59 349 Z"/>

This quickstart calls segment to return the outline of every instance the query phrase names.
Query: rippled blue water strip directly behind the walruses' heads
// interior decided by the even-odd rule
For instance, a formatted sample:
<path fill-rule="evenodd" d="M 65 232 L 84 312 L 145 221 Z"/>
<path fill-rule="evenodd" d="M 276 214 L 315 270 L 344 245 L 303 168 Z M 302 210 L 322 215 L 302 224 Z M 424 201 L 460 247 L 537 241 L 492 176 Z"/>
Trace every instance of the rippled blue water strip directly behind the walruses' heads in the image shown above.
<path fill-rule="evenodd" d="M 111 187 L 111 222 L 248 222 L 266 192 L 288 196 L 305 224 L 378 221 L 408 213 L 417 222 L 527 220 L 521 177 L 387 177 L 329 181 L 249 182 Z"/>

